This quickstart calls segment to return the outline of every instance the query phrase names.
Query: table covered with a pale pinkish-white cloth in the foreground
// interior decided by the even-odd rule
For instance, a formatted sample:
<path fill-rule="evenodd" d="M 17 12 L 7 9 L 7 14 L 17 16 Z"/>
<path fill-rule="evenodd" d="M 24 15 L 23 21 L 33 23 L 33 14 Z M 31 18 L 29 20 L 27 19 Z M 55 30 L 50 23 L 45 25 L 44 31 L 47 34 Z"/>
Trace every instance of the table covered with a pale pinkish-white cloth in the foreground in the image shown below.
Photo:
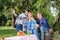
<path fill-rule="evenodd" d="M 5 38 L 4 40 L 37 40 L 36 35 L 13 36 Z"/>

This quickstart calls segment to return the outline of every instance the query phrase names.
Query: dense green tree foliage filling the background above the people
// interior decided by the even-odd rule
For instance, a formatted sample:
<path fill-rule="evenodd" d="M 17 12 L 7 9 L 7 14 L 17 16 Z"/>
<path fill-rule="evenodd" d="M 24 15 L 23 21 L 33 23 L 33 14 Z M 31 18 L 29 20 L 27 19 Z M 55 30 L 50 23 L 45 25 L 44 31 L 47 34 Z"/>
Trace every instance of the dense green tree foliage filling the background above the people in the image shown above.
<path fill-rule="evenodd" d="M 51 2 L 54 2 L 51 4 Z M 44 17 L 48 19 L 50 26 L 53 26 L 54 17 L 51 14 L 50 6 L 56 7 L 60 10 L 60 0 L 0 0 L 0 17 L 4 15 L 6 19 L 12 19 L 12 9 L 16 9 L 17 12 L 22 12 L 29 9 L 36 17 L 37 12 L 43 12 Z M 8 25 L 9 23 L 7 23 Z M 60 24 L 60 23 L 59 23 Z M 57 27 L 56 27 L 57 28 Z"/>

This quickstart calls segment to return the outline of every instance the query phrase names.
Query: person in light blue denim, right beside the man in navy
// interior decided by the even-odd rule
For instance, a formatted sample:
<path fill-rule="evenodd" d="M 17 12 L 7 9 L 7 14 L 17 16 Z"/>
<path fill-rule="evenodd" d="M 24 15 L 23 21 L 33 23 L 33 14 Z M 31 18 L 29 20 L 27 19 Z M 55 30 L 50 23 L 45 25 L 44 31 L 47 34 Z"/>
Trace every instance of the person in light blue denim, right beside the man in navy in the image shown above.
<path fill-rule="evenodd" d="M 35 34 L 35 35 L 36 35 L 37 40 L 39 40 L 38 30 L 37 30 L 38 26 L 39 26 L 39 25 L 37 24 L 37 22 L 36 22 L 36 20 L 35 20 L 35 17 L 32 16 L 32 17 L 31 17 L 31 30 L 32 30 L 32 34 Z"/>

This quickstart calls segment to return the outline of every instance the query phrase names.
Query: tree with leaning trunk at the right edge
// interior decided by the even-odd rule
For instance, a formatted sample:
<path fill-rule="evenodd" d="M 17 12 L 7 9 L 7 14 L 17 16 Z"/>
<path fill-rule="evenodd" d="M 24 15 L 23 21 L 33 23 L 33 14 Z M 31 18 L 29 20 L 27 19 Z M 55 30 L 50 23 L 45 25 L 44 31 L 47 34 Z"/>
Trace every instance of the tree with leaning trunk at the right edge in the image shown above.
<path fill-rule="evenodd" d="M 53 28 L 54 28 L 54 30 L 56 31 L 56 30 L 60 30 L 60 0 L 52 0 L 54 3 L 53 3 L 53 5 L 54 5 L 54 7 L 56 7 L 57 8 L 57 16 L 55 17 L 55 20 L 54 20 L 54 24 L 53 24 Z"/>

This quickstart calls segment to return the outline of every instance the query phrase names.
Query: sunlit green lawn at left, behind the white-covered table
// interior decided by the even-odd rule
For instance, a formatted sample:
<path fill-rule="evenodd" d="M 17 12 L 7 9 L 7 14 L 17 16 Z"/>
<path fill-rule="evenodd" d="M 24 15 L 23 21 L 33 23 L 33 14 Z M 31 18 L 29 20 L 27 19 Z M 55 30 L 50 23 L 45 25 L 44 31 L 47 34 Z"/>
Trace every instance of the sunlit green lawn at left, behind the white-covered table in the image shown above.
<path fill-rule="evenodd" d="M 0 38 L 16 36 L 16 30 L 12 27 L 0 27 Z"/>

